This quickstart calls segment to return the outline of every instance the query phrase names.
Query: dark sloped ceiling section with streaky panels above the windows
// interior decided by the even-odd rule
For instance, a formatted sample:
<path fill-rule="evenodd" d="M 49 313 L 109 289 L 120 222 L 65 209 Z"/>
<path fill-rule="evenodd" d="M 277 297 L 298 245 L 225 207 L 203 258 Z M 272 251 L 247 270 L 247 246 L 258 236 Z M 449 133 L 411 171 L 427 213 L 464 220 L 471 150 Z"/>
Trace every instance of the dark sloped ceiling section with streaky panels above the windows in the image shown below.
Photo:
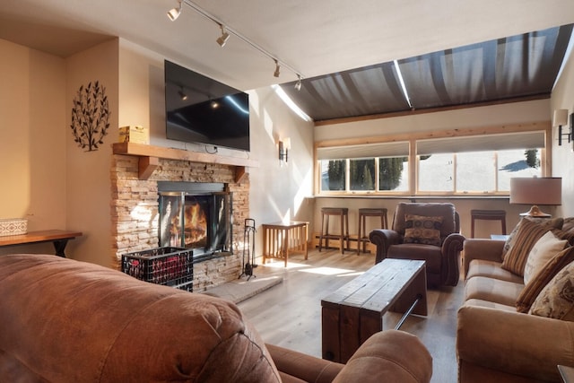
<path fill-rule="evenodd" d="M 549 97 L 572 24 L 325 74 L 283 89 L 315 121 Z M 404 83 L 404 87 L 402 86 Z"/>

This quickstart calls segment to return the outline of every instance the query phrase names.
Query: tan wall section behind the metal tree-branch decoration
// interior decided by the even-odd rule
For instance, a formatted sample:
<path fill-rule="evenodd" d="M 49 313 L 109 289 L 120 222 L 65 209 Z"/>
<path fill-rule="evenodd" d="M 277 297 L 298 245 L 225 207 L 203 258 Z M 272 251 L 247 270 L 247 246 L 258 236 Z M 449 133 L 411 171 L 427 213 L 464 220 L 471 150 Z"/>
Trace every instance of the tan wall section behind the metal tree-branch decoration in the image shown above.
<path fill-rule="evenodd" d="M 81 239 L 68 245 L 70 257 L 100 265 L 111 265 L 110 180 L 111 144 L 116 142 L 118 118 L 118 40 L 100 44 L 66 59 L 66 125 L 71 124 L 72 102 L 80 86 L 100 82 L 109 99 L 108 135 L 104 144 L 88 152 L 74 142 L 66 129 L 67 214 L 66 226 L 82 231 Z"/>

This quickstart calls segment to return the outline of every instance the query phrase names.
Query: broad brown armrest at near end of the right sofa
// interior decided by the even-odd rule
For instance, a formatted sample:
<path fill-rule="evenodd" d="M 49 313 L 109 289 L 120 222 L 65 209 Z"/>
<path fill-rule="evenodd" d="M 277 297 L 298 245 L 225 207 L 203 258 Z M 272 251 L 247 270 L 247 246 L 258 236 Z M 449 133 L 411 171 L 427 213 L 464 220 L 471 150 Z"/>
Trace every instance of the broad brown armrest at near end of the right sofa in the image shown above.
<path fill-rule="evenodd" d="M 574 365 L 572 344 L 574 322 L 470 305 L 458 310 L 459 366 L 464 361 L 531 379 L 560 381 L 556 366 Z"/>

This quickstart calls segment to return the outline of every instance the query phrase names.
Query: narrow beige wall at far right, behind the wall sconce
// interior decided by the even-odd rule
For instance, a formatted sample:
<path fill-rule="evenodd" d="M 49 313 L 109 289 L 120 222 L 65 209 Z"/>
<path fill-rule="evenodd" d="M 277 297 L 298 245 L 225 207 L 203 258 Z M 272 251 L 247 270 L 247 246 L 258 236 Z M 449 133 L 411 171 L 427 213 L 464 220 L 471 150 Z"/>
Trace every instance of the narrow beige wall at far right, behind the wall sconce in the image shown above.
<path fill-rule="evenodd" d="M 574 42 L 570 41 L 570 45 Z M 569 114 L 574 113 L 574 57 L 570 55 L 563 67 L 561 76 L 552 91 L 550 113 L 554 109 L 568 109 Z M 572 124 L 572 118 L 569 118 Z M 568 133 L 569 127 L 564 130 Z M 552 176 L 562 178 L 562 205 L 558 213 L 563 216 L 574 215 L 574 151 L 572 143 L 563 142 L 558 146 L 558 127 L 552 128 Z"/>

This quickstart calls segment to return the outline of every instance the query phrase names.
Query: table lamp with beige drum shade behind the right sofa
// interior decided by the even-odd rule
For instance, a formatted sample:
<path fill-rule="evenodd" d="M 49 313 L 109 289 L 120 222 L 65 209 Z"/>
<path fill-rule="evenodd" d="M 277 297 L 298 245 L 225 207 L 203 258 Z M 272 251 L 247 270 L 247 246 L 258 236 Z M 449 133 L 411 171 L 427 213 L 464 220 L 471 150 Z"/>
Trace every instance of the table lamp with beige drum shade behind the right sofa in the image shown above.
<path fill-rule="evenodd" d="M 562 204 L 562 178 L 510 178 L 510 204 L 533 205 L 521 216 L 549 218 L 551 214 L 542 212 L 538 205 Z"/>

